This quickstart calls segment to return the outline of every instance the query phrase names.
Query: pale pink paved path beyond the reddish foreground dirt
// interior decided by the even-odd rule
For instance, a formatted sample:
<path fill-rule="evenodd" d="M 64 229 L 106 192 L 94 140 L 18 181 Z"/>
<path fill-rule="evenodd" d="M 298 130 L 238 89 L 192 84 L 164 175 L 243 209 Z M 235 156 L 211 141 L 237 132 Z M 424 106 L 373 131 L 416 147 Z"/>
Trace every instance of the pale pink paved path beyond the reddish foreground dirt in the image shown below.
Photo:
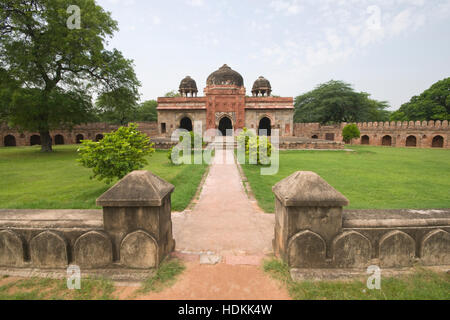
<path fill-rule="evenodd" d="M 232 161 L 222 161 L 226 157 Z M 274 215 L 249 201 L 232 150 L 216 150 L 213 161 L 193 211 L 172 218 L 176 250 L 224 257 L 271 253 Z"/>

